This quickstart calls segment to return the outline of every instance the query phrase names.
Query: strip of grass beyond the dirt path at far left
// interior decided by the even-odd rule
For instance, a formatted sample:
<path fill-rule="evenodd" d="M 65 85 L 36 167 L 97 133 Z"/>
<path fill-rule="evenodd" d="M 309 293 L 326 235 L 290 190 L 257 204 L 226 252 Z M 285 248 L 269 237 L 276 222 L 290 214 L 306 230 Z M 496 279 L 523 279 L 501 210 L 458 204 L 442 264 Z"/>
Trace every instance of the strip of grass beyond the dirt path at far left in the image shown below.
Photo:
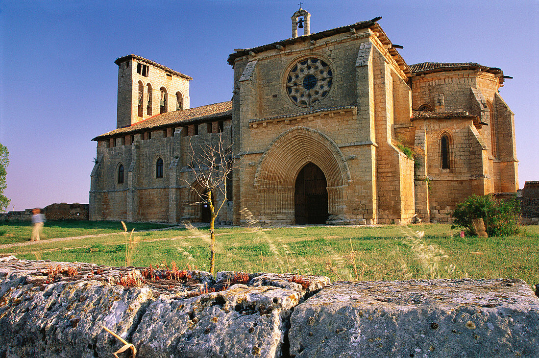
<path fill-rule="evenodd" d="M 148 230 L 169 227 L 170 225 L 154 223 L 129 223 L 129 229 Z M 112 234 L 123 231 L 119 221 L 83 221 L 83 220 L 49 220 L 45 223 L 41 240 L 57 237 L 71 237 L 93 234 Z M 0 223 L 0 244 L 12 244 L 29 241 L 32 235 L 30 221 Z"/>

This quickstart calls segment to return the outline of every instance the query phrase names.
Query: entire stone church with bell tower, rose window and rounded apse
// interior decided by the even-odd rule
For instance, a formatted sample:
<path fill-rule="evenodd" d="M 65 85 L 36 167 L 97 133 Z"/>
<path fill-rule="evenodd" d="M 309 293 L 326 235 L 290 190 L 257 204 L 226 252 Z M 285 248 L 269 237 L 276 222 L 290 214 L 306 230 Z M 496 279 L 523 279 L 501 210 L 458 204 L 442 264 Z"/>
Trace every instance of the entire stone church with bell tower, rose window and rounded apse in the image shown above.
<path fill-rule="evenodd" d="M 219 222 L 243 223 L 244 208 L 272 225 L 444 222 L 469 195 L 516 192 L 508 76 L 408 65 L 379 19 L 310 33 L 299 9 L 292 38 L 229 55 L 232 101 L 196 108 L 190 76 L 116 59 L 118 118 L 93 138 L 90 219 L 208 220 L 188 165 L 193 143 L 218 138 L 238 167 Z"/>

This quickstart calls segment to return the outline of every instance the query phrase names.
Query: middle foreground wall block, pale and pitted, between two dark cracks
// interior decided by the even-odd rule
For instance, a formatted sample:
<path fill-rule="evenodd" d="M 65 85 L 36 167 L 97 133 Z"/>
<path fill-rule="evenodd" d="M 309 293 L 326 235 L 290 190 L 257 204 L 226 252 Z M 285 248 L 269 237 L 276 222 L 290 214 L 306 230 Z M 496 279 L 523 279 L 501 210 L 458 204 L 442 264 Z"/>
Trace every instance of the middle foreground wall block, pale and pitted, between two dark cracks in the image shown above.
<path fill-rule="evenodd" d="M 133 343 L 148 357 L 280 356 L 299 299 L 292 290 L 243 284 L 190 299 L 160 298 Z"/>

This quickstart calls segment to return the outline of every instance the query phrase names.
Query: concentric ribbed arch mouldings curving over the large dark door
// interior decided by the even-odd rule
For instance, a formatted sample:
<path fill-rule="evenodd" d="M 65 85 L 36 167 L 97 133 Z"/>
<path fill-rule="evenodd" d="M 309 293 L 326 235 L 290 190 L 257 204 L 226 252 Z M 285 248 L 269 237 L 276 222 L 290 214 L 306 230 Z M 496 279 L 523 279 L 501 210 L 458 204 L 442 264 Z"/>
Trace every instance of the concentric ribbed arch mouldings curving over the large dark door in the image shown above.
<path fill-rule="evenodd" d="M 294 127 L 274 139 L 259 160 L 254 185 L 258 188 L 292 188 L 307 163 L 317 165 L 328 187 L 348 185 L 346 159 L 337 144 L 320 131 Z"/>

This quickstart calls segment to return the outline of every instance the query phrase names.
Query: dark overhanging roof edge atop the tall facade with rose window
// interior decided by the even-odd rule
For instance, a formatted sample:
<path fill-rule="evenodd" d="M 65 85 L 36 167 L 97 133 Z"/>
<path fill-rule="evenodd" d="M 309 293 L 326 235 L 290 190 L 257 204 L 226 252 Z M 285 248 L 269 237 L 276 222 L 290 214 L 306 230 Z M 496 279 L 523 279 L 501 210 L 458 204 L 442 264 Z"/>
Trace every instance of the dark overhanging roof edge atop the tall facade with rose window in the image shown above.
<path fill-rule="evenodd" d="M 374 18 L 372 20 L 369 20 L 369 21 L 360 21 L 360 22 L 355 23 L 355 24 L 341 26 L 341 27 L 335 27 L 335 29 L 315 32 L 315 33 L 312 33 L 312 34 L 307 35 L 307 36 L 299 36 L 299 37 L 289 38 L 289 39 L 286 39 L 286 40 L 281 40 L 281 41 L 277 41 L 277 42 L 274 42 L 274 43 L 271 43 L 271 44 L 262 45 L 262 46 L 258 46 L 258 47 L 241 48 L 241 49 L 238 49 L 238 50 L 234 50 L 236 52 L 231 53 L 229 55 L 229 58 L 228 58 L 227 62 L 228 62 L 229 65 L 233 66 L 234 61 L 236 61 L 237 58 L 245 56 L 249 52 L 260 53 L 260 52 L 264 52 L 264 51 L 268 51 L 268 50 L 273 50 L 274 48 L 277 48 L 278 45 L 279 46 L 287 46 L 287 45 L 292 45 L 292 44 L 298 43 L 300 41 L 306 41 L 306 40 L 314 40 L 314 41 L 316 41 L 316 40 L 320 40 L 320 39 L 323 39 L 323 38 L 326 38 L 326 37 L 333 36 L 335 34 L 349 32 L 351 29 L 362 30 L 362 29 L 368 29 L 369 28 L 373 32 L 377 33 L 378 39 L 381 41 L 381 43 L 383 45 L 393 45 L 393 43 L 391 43 L 391 41 L 389 40 L 389 38 L 386 35 L 386 33 L 384 32 L 384 30 L 382 30 L 382 27 L 380 27 L 380 25 L 378 25 L 376 23 L 381 18 L 382 17 L 376 17 L 376 18 Z M 402 56 L 400 56 L 400 54 L 395 49 L 395 47 L 390 46 L 388 51 L 392 55 L 393 59 L 395 59 L 397 64 L 399 66 L 402 66 L 402 69 L 403 69 L 404 73 L 410 75 L 411 74 L 410 67 L 406 64 L 406 62 L 404 61 Z"/>

